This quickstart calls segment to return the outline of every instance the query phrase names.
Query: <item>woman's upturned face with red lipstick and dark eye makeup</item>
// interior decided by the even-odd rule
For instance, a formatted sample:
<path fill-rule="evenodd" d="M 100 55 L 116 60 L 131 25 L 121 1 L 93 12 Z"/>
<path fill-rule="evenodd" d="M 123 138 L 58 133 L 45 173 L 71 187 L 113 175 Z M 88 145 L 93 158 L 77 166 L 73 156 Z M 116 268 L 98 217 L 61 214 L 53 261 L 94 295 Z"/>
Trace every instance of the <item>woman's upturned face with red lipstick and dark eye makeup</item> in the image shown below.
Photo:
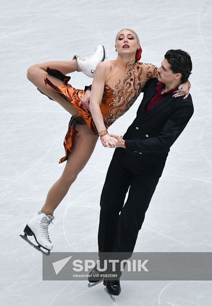
<path fill-rule="evenodd" d="M 122 30 L 117 36 L 115 48 L 120 55 L 132 55 L 140 48 L 140 43 L 137 43 L 137 38 L 133 32 Z"/>

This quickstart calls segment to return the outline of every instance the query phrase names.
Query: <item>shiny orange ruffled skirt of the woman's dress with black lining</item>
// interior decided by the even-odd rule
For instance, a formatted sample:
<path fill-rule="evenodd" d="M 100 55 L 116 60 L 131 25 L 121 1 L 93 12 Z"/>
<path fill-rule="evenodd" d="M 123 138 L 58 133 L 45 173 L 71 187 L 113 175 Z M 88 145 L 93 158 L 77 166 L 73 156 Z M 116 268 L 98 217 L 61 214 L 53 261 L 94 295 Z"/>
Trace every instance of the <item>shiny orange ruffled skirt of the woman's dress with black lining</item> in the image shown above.
<path fill-rule="evenodd" d="M 46 72 L 54 77 L 56 77 L 59 80 L 62 80 L 64 82 L 65 86 L 55 86 L 52 84 L 52 82 L 49 81 L 47 77 L 44 78 L 45 84 L 49 85 L 51 88 L 53 88 L 55 91 L 57 91 L 64 99 L 66 99 L 71 105 L 78 111 L 78 114 L 76 116 L 72 116 L 71 120 L 68 124 L 68 132 L 64 139 L 64 148 L 65 148 L 65 156 L 60 159 L 59 164 L 61 162 L 64 162 L 68 158 L 68 151 L 71 152 L 74 143 L 75 143 L 75 136 L 78 133 L 77 130 L 75 130 L 76 123 L 82 124 L 82 125 L 88 125 L 89 128 L 96 134 L 98 134 L 96 125 L 94 124 L 93 118 L 90 113 L 86 112 L 84 106 L 79 106 L 79 102 L 83 95 L 85 94 L 85 91 L 82 89 L 75 89 L 70 84 L 68 84 L 68 81 L 71 79 L 70 76 L 66 76 L 63 73 L 61 73 L 59 70 L 56 69 L 50 69 L 47 67 Z M 40 91 L 42 94 L 46 95 L 44 92 L 42 92 L 39 88 L 37 88 L 38 91 Z M 46 95 L 50 100 L 53 100 L 48 95 Z M 54 101 L 54 100 L 53 100 Z"/>

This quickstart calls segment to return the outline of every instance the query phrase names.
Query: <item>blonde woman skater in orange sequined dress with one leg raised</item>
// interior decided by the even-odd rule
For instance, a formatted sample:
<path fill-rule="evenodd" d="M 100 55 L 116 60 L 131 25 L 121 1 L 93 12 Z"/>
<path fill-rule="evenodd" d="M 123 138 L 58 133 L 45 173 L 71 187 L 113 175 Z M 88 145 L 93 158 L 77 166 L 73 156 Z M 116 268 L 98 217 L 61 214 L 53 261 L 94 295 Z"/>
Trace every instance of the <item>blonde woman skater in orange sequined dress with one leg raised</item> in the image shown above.
<path fill-rule="evenodd" d="M 72 115 L 64 140 L 66 155 L 59 162 L 67 160 L 64 171 L 50 188 L 38 215 L 27 222 L 24 235 L 20 235 L 46 255 L 53 248 L 48 234 L 48 226 L 54 219 L 53 212 L 90 159 L 98 136 L 107 146 L 117 147 L 117 140 L 108 135 L 108 127 L 129 110 L 146 82 L 157 77 L 155 65 L 138 62 L 142 50 L 133 30 L 121 30 L 115 42 L 117 59 L 100 62 L 96 67 L 90 98 L 91 113 L 80 103 L 85 91 L 73 88 L 68 84 L 70 76 L 65 75 L 79 71 L 77 59 L 35 64 L 27 70 L 27 78 L 38 90 L 57 101 Z M 189 93 L 188 84 L 183 84 L 183 88 L 184 94 Z M 38 246 L 29 241 L 27 235 L 33 235 Z M 40 247 L 48 250 L 48 253 Z"/>

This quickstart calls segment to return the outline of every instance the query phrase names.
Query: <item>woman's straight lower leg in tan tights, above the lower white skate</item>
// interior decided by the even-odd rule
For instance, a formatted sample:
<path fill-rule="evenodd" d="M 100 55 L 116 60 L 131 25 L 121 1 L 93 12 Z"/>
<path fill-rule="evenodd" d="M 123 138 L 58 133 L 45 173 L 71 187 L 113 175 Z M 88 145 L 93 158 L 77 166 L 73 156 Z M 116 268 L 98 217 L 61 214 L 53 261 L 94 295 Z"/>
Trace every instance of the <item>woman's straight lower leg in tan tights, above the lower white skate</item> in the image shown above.
<path fill-rule="evenodd" d="M 67 194 L 71 184 L 90 159 L 97 143 L 98 136 L 87 125 L 77 124 L 76 130 L 79 133 L 76 135 L 72 151 L 69 152 L 64 171 L 59 180 L 50 188 L 46 202 L 41 209 L 46 215 L 53 215 L 54 210 Z"/>

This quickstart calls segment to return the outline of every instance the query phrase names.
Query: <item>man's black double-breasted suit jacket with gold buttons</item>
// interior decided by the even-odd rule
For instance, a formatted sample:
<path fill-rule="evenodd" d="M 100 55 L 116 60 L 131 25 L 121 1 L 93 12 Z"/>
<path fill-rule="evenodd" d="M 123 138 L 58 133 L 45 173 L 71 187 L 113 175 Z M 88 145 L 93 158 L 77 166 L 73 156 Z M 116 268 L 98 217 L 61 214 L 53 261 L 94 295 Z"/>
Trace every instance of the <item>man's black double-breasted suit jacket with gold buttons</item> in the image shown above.
<path fill-rule="evenodd" d="M 122 139 L 126 148 L 116 148 L 116 156 L 127 170 L 143 176 L 161 177 L 170 147 L 185 129 L 194 112 L 192 97 L 166 96 L 146 114 L 144 107 L 156 93 L 157 79 L 144 86 L 137 116 Z"/>

